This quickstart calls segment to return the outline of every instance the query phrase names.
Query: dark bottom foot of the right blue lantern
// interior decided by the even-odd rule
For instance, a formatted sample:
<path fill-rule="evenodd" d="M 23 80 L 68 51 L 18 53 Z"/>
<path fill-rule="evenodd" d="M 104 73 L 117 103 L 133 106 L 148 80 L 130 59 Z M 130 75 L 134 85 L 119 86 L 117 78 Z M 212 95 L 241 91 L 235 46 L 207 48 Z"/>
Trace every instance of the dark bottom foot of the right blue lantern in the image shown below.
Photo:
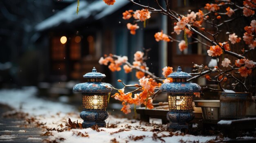
<path fill-rule="evenodd" d="M 188 123 L 188 124 L 177 124 L 177 123 L 168 123 L 167 124 L 168 130 L 171 131 L 183 131 L 183 132 L 192 132 L 193 130 L 193 124 Z"/>

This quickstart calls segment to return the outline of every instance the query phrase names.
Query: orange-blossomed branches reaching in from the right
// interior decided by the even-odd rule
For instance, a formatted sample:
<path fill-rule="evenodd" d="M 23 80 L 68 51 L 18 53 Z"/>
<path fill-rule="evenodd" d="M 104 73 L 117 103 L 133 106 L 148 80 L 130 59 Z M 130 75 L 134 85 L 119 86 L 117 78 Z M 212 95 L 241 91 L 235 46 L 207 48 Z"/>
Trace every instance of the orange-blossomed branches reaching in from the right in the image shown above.
<path fill-rule="evenodd" d="M 114 4 L 115 0 L 103 0 L 106 4 Z M 164 8 L 160 3 L 159 0 L 155 0 L 158 9 L 150 7 L 149 5 L 143 5 L 139 4 L 140 1 L 135 2 L 134 0 L 128 0 L 132 2 L 133 4 L 141 7 L 141 10 L 128 10 L 123 13 L 123 19 L 129 20 L 130 18 L 134 18 L 133 24 L 128 23 L 127 29 L 130 30 L 130 33 L 132 35 L 136 34 L 136 30 L 139 29 L 139 26 L 137 25 L 137 22 L 146 22 L 150 18 L 150 13 L 161 13 L 162 15 L 167 15 L 168 18 L 171 18 L 172 20 L 175 20 L 174 23 L 174 32 L 171 32 L 171 34 L 176 33 L 179 35 L 181 31 L 184 32 L 184 40 L 177 40 L 173 38 L 173 36 L 168 35 L 161 32 L 155 33 L 154 37 L 155 40 L 158 42 L 160 40 L 163 40 L 165 42 L 178 42 L 178 46 L 180 51 L 183 51 L 184 49 L 188 48 L 187 44 L 195 44 L 200 43 L 209 50 L 207 51 L 208 55 L 211 57 L 218 57 L 222 56 L 221 66 L 223 68 L 226 68 L 225 70 L 221 70 L 217 64 L 214 68 L 209 68 L 208 66 L 204 65 L 197 65 L 194 64 L 194 70 L 195 73 L 190 73 L 190 75 L 193 75 L 190 79 L 187 81 L 192 81 L 194 79 L 197 79 L 199 77 L 205 77 L 209 81 L 213 81 L 216 84 L 218 84 L 218 89 L 209 88 L 208 86 L 203 87 L 202 90 L 215 90 L 215 91 L 224 91 L 225 89 L 225 82 L 229 80 L 233 80 L 236 83 L 232 84 L 234 86 L 234 89 L 238 84 L 241 84 L 246 91 L 248 91 L 250 88 L 247 88 L 246 81 L 248 79 L 248 76 L 251 75 L 252 71 L 256 69 L 256 62 L 249 60 L 247 57 L 247 53 L 249 51 L 252 51 L 256 46 L 256 20 L 253 19 L 253 15 L 256 10 L 256 4 L 254 2 L 251 2 L 251 0 L 244 0 L 243 6 L 239 6 L 235 2 L 231 2 L 230 0 L 219 0 L 216 1 L 216 3 L 207 3 L 205 4 L 205 11 L 199 9 L 198 12 L 189 11 L 187 15 L 182 15 L 180 13 L 176 13 L 175 11 L 171 10 L 169 7 L 169 1 L 164 0 L 166 8 Z M 232 6 L 232 7 L 231 7 Z M 222 11 L 223 9 L 220 9 L 220 7 L 225 7 L 226 11 Z M 232 8 L 235 9 L 233 10 Z M 231 17 L 234 15 L 234 13 L 241 12 L 240 10 L 243 10 L 243 16 L 247 18 L 252 18 L 251 24 L 249 26 L 245 26 L 244 30 L 245 33 L 243 35 L 243 41 L 245 44 L 248 45 L 248 47 L 243 48 L 241 51 L 242 54 L 232 52 L 232 46 L 231 44 L 236 44 L 241 41 L 241 37 L 238 37 L 236 33 L 227 32 L 229 36 L 229 41 L 222 41 L 222 39 L 218 39 L 218 35 L 221 33 L 220 28 L 224 26 L 226 23 L 233 22 L 237 20 L 238 18 L 241 18 L 241 16 L 238 17 Z M 230 17 L 227 20 L 224 20 L 220 15 L 227 15 Z M 238 15 L 238 14 L 237 14 Z M 211 16 L 211 18 L 210 18 Z M 225 18 L 225 16 L 223 16 Z M 214 28 L 214 32 L 205 29 L 202 27 L 202 24 L 211 24 Z M 201 30 L 201 31 L 199 31 Z M 213 34 L 212 34 L 213 33 Z M 193 42 L 186 42 L 186 38 L 191 37 L 195 41 Z M 198 37 L 201 37 L 206 42 L 200 40 Z M 230 43 L 229 43 L 230 42 Z M 247 49 L 249 48 L 249 49 Z M 144 54 L 141 51 L 137 51 L 134 54 L 134 62 L 130 63 L 128 62 L 128 58 L 126 56 L 118 56 L 118 55 L 105 55 L 105 57 L 101 57 L 99 60 L 99 64 L 104 64 L 108 66 L 108 68 L 111 71 L 120 71 L 121 65 L 124 64 L 124 72 L 130 73 L 132 70 L 136 70 L 136 77 L 139 79 L 139 84 L 134 85 L 126 85 L 123 83 L 123 81 L 119 80 L 124 85 L 124 88 L 122 89 L 116 89 L 119 93 L 115 93 L 112 97 L 114 97 L 117 100 L 122 101 L 122 105 L 124 106 L 121 110 L 124 113 L 130 112 L 130 104 L 134 104 L 135 108 L 136 105 L 144 104 L 146 108 L 153 108 L 152 100 L 159 93 L 159 86 L 161 85 L 161 79 L 164 79 L 164 83 L 166 82 L 172 82 L 171 78 L 167 78 L 167 76 L 173 72 L 172 67 L 164 67 L 163 75 L 165 78 L 157 77 L 150 71 L 148 71 L 148 67 L 146 65 L 145 60 L 148 59 L 147 52 Z M 237 60 L 236 62 L 233 62 L 231 64 L 231 60 L 227 58 L 228 56 L 235 57 Z M 110 64 L 108 64 L 110 63 Z M 212 66 L 211 66 L 212 67 Z M 215 73 L 215 75 L 211 78 L 210 74 Z M 216 75 L 217 73 L 217 75 Z M 243 80 L 239 77 L 234 76 L 234 74 L 239 73 L 241 77 L 245 77 Z M 124 89 L 126 87 L 136 87 L 135 90 L 131 92 L 124 93 Z M 138 91 L 142 91 L 139 94 L 136 93 Z M 132 95 L 132 93 L 135 93 Z M 152 97 L 152 98 L 151 98 Z"/>

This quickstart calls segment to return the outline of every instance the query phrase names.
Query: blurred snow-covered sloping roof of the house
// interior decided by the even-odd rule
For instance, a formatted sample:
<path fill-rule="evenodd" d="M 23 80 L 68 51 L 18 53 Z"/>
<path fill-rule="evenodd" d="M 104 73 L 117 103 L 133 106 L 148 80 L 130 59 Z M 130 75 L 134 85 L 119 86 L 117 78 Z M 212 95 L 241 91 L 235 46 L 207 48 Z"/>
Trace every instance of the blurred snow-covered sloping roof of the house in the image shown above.
<path fill-rule="evenodd" d="M 62 11 L 59 11 L 37 24 L 35 29 L 36 31 L 43 31 L 58 26 L 63 22 L 70 23 L 80 18 L 87 19 L 90 16 L 93 16 L 95 20 L 99 20 L 106 15 L 114 13 L 126 4 L 128 4 L 128 0 L 117 0 L 114 5 L 110 6 L 105 4 L 102 0 L 95 0 L 91 3 L 88 3 L 85 0 L 80 0 L 78 15 L 76 15 L 77 2 L 74 2 Z"/>

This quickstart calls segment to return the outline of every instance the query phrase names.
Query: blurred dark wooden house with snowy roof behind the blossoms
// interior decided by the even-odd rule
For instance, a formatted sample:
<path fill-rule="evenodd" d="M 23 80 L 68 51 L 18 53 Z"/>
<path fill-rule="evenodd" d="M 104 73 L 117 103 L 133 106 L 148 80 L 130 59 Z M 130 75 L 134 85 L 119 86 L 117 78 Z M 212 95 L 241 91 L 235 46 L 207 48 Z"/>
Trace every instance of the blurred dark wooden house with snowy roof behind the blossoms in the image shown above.
<path fill-rule="evenodd" d="M 157 7 L 152 0 L 142 3 Z M 70 4 L 35 27 L 41 35 L 36 43 L 42 56 L 39 64 L 43 65 L 40 67 L 45 67 L 41 69 L 40 81 L 83 81 L 82 75 L 95 66 L 99 72 L 107 75 L 106 82 L 118 88 L 121 85 L 116 82 L 117 79 L 126 83 L 137 81 L 135 73 L 111 73 L 107 66 L 99 65 L 99 58 L 113 53 L 127 55 L 129 62 L 132 62 L 133 54 L 143 48 L 151 49 L 147 65 L 159 77 L 162 76 L 164 66 L 173 66 L 174 70 L 177 66 L 182 66 L 184 71 L 191 72 L 192 61 L 205 64 L 205 50 L 198 44 L 181 53 L 176 42 L 155 41 L 155 33 L 161 30 L 164 33 L 173 31 L 173 22 L 166 16 L 152 13 L 146 27 L 144 28 L 143 22 L 139 22 L 140 29 L 137 29 L 136 35 L 131 35 L 126 24 L 133 21 L 123 20 L 122 13 L 129 9 L 141 9 L 140 7 L 127 0 L 117 0 L 110 6 L 102 0 L 80 0 L 79 13 L 76 15 L 76 4 Z M 187 11 L 188 6 L 184 7 L 180 1 L 172 1 L 171 4 L 173 9 L 182 8 L 183 11 Z M 64 38 L 63 42 L 61 37 Z M 177 38 L 182 37 L 180 35 Z"/>

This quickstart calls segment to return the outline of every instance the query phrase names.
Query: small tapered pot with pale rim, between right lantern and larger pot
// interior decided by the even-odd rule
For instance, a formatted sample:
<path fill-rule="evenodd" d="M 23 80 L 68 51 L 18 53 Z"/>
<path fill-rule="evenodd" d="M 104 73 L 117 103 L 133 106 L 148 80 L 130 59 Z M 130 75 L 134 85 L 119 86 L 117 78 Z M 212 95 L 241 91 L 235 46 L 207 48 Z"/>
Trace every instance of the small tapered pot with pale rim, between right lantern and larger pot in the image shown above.
<path fill-rule="evenodd" d="M 204 120 L 218 121 L 220 100 L 195 100 L 195 106 L 202 108 Z"/>

